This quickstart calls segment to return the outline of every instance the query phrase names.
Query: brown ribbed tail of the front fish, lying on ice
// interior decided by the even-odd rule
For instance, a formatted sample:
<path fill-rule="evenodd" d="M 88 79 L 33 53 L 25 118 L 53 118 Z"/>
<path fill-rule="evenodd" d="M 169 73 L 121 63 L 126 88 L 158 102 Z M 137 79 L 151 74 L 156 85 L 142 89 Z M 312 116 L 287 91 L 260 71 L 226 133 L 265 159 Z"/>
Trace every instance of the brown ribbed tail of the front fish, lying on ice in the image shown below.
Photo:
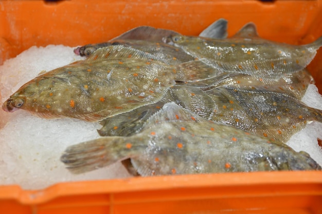
<path fill-rule="evenodd" d="M 72 145 L 67 147 L 60 160 L 74 174 L 92 171 L 130 158 L 135 148 L 126 140 L 130 138 L 105 137 Z"/>

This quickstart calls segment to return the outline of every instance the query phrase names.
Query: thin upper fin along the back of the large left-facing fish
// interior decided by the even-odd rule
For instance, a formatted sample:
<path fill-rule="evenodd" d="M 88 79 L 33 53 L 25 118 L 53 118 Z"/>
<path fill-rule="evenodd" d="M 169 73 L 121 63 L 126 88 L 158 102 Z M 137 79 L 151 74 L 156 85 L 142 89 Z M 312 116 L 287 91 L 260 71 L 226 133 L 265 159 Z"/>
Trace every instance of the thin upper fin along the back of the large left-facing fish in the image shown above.
<path fill-rule="evenodd" d="M 131 57 L 131 59 L 156 60 L 156 56 L 148 52 L 140 51 L 122 45 L 112 45 L 97 49 L 83 62 L 94 63 L 106 60 L 122 60 L 128 57 Z"/>

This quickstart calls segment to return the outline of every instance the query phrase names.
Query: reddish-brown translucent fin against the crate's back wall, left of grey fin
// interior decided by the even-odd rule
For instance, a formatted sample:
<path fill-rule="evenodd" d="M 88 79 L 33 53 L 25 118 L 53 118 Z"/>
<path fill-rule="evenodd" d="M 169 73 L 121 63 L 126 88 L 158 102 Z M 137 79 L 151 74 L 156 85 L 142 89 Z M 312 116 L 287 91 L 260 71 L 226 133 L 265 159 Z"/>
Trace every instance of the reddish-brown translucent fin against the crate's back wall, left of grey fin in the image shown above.
<path fill-rule="evenodd" d="M 162 38 L 169 35 L 177 35 L 179 33 L 161 28 L 153 28 L 150 26 L 140 26 L 133 28 L 115 38 L 114 40 L 146 40 L 146 41 L 159 41 L 162 42 Z"/>

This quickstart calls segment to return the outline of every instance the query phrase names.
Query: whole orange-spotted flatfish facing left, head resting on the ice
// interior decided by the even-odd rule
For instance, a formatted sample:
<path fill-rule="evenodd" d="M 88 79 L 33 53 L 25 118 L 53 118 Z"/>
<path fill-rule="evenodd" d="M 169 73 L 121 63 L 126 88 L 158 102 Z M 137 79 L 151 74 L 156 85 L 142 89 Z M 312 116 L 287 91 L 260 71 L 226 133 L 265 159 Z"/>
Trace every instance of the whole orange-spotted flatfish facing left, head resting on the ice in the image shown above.
<path fill-rule="evenodd" d="M 146 52 L 109 46 L 84 61 L 35 77 L 11 95 L 3 109 L 100 121 L 158 102 L 175 81 L 208 79 L 216 75 L 212 71 L 199 60 L 171 66 Z"/>

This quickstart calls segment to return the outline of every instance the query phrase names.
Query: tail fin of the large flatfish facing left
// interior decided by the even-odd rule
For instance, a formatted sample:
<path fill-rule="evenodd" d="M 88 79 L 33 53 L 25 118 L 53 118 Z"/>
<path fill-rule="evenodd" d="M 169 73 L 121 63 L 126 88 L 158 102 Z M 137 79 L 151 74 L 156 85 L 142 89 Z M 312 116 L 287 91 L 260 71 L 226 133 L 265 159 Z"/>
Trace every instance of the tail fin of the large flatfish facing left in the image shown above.
<path fill-rule="evenodd" d="M 175 81 L 196 82 L 208 80 L 221 73 L 220 70 L 209 66 L 204 61 L 206 60 L 200 59 L 175 65 Z"/>

